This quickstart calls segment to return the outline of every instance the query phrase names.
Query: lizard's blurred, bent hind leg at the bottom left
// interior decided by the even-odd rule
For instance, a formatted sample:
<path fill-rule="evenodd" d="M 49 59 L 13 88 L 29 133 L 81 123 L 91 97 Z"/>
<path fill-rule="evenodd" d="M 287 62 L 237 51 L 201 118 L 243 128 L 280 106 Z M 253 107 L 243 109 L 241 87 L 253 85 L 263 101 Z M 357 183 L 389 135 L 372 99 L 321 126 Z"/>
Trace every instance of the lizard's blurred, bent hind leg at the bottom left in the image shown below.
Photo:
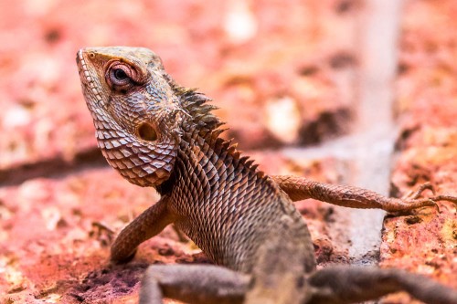
<path fill-rule="evenodd" d="M 140 304 L 161 304 L 163 298 L 186 303 L 241 304 L 250 277 L 212 265 L 153 265 L 147 268 Z"/>

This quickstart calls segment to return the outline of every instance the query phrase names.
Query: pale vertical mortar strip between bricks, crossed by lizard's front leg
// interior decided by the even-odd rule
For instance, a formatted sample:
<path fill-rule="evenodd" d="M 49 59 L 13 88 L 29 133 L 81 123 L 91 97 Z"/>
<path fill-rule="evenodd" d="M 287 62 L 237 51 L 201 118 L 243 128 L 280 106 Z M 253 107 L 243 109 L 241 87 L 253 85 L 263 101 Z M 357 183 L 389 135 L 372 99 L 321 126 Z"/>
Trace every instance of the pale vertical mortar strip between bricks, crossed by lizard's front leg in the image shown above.
<path fill-rule="evenodd" d="M 367 0 L 361 33 L 361 67 L 358 79 L 356 167 L 354 183 L 388 194 L 390 160 L 395 140 L 392 121 L 393 82 L 397 71 L 399 20 L 402 1 Z M 380 244 L 385 213 L 351 209 L 349 256 L 360 264 L 373 259 Z"/>

